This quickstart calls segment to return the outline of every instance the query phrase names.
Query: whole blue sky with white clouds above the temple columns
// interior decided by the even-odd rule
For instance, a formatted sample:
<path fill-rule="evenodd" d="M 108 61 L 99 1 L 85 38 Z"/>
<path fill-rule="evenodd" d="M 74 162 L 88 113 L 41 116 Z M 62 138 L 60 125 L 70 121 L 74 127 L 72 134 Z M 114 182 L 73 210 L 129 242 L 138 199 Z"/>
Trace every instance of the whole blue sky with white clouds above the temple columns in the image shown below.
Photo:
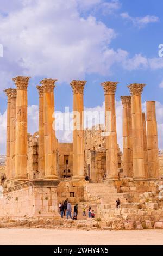
<path fill-rule="evenodd" d="M 28 75 L 28 104 L 37 105 L 35 86 L 58 78 L 55 109 L 72 109 L 72 79 L 87 80 L 84 105 L 102 106 L 104 81 L 118 81 L 116 100 L 130 83 L 146 83 L 142 102 L 158 101 L 163 127 L 162 0 L 0 0 L 0 127 L 4 132 L 12 77 Z M 162 84 L 161 84 L 162 83 Z M 161 137 L 160 137 L 161 139 Z M 2 141 L 4 142 L 4 141 Z M 1 141 L 0 141 L 1 143 Z M 163 147 L 161 142 L 160 147 Z"/>

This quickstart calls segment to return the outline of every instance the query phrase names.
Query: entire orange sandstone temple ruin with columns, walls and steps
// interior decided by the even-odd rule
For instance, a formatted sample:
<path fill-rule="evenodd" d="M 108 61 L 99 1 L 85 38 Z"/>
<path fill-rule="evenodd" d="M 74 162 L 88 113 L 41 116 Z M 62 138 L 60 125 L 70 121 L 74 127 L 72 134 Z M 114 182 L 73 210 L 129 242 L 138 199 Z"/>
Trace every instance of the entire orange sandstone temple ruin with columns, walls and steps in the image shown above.
<path fill-rule="evenodd" d="M 0 198 L 1 219 L 7 222 L 15 218 L 11 223 L 16 220 L 20 223 L 21 218 L 21 225 L 29 226 L 72 223 L 79 228 L 106 230 L 163 228 L 162 153 L 158 150 L 155 102 L 147 101 L 147 113 L 142 113 L 141 94 L 145 84 L 130 84 L 131 96 L 121 97 L 122 156 L 116 132 L 117 82 L 102 83 L 106 126 L 106 113 L 110 112 L 109 135 L 105 125 L 84 131 L 82 112 L 86 81 L 70 83 L 73 111 L 80 113 L 76 124 L 79 129 L 73 130 L 73 143 L 60 143 L 53 129 L 57 80 L 44 79 L 37 86 L 39 131 L 34 135 L 27 132 L 29 79 L 18 76 L 13 79 L 16 89 L 5 90 L 8 97 L 7 153 L 5 173 L 0 176 L 4 189 Z M 91 181 L 86 181 L 85 176 Z M 117 197 L 121 200 L 119 209 L 115 204 Z M 98 221 L 74 224 L 71 220 L 61 220 L 58 203 L 66 198 L 72 205 L 79 203 L 79 207 L 91 205 Z"/>

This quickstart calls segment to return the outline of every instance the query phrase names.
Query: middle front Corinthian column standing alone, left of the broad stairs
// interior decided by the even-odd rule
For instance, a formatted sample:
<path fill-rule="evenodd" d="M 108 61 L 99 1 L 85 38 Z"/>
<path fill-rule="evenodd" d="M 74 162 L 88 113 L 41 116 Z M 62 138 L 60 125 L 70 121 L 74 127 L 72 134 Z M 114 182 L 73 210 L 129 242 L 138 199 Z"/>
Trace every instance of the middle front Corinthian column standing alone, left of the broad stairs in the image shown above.
<path fill-rule="evenodd" d="M 83 91 L 86 81 L 73 80 L 73 179 L 84 178 Z"/>

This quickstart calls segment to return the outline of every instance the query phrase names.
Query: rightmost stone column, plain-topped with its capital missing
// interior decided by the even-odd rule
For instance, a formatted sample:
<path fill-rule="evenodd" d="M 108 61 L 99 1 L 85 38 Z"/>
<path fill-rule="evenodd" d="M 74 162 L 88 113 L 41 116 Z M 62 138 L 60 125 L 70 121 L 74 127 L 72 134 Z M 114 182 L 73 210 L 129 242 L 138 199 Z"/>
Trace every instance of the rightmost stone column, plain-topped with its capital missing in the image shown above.
<path fill-rule="evenodd" d="M 156 122 L 155 101 L 147 101 L 147 146 L 149 179 L 159 178 L 158 129 Z"/>

